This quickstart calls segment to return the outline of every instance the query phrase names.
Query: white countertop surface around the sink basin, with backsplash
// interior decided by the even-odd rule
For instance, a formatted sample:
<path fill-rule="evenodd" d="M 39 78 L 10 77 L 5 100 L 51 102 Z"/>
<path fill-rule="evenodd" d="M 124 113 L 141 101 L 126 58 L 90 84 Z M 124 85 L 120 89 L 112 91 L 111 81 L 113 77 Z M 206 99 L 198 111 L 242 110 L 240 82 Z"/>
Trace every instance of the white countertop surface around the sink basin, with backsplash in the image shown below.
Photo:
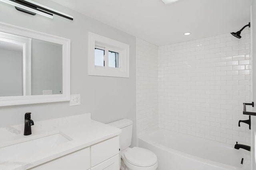
<path fill-rule="evenodd" d="M 34 152 L 28 148 L 26 153 L 17 153 L 22 156 L 15 160 L 0 160 L 0 170 L 26 170 L 32 168 L 117 136 L 121 133 L 121 129 L 91 120 L 90 113 L 86 113 L 47 121 L 34 121 L 32 135 L 24 136 L 23 132 L 24 125 L 0 128 L 0 148 L 56 133 L 67 136 L 70 141 L 58 145 L 54 149 L 40 150 L 40 152 Z M 1 154 L 4 153 L 0 152 L 0 156 Z"/>

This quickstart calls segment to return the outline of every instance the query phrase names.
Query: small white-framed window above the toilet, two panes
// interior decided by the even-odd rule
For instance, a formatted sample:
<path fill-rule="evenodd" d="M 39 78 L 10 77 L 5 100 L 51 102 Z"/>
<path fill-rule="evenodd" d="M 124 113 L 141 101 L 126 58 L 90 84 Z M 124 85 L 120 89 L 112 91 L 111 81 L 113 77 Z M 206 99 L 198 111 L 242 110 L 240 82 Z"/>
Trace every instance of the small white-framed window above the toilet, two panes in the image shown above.
<path fill-rule="evenodd" d="M 129 77 L 129 45 L 89 32 L 88 74 Z"/>

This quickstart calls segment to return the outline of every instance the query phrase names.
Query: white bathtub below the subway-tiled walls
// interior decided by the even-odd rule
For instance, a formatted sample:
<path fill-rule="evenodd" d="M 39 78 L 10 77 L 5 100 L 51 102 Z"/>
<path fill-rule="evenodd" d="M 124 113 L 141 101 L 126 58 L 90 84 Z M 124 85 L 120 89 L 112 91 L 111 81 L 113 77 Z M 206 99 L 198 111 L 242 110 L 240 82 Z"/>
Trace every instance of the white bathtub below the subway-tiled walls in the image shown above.
<path fill-rule="evenodd" d="M 250 170 L 247 150 L 161 128 L 138 138 L 138 147 L 156 154 L 157 170 Z"/>

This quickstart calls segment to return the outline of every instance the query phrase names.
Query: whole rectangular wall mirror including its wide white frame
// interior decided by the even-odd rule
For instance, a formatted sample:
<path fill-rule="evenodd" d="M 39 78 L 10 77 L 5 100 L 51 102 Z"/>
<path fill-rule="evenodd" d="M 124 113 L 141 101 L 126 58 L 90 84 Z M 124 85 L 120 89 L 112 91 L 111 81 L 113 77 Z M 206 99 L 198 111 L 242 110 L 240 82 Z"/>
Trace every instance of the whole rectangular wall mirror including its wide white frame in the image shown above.
<path fill-rule="evenodd" d="M 0 106 L 70 100 L 70 40 L 0 22 Z"/>

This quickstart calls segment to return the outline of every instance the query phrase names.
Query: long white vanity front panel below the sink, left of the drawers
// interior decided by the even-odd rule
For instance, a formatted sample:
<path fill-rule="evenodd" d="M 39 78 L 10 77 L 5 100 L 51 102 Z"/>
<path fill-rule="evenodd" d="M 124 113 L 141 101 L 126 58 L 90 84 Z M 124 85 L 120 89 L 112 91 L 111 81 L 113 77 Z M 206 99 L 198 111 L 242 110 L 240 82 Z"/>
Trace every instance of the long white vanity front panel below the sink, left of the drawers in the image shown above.
<path fill-rule="evenodd" d="M 29 170 L 90 170 L 90 147 L 56 158 Z"/>

